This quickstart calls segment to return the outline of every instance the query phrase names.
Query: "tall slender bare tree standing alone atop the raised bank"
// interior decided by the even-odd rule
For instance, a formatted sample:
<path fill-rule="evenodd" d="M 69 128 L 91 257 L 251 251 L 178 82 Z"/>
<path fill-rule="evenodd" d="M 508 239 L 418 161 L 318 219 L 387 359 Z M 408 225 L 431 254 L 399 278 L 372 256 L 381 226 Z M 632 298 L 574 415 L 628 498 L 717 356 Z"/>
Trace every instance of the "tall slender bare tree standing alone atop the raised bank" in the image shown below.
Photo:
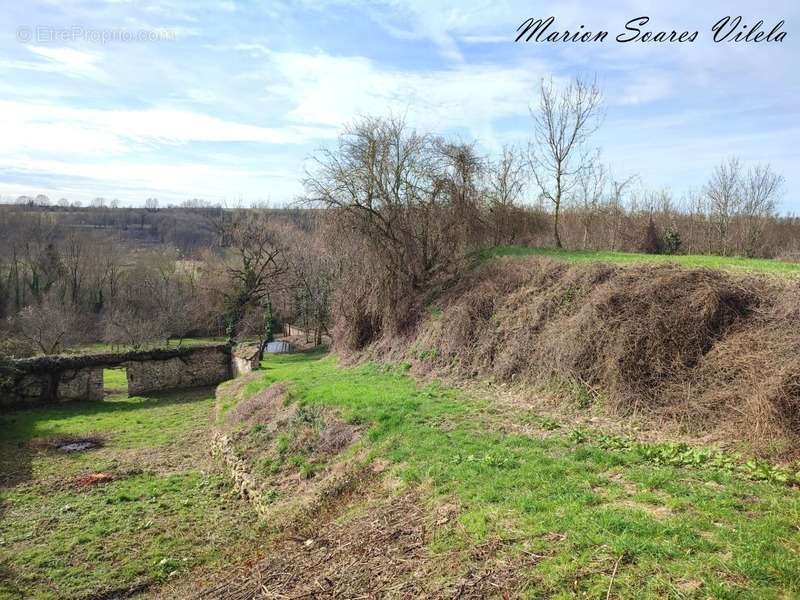
<path fill-rule="evenodd" d="M 561 248 L 559 216 L 562 202 L 577 176 L 591 164 L 586 147 L 599 126 L 602 96 L 596 81 L 576 78 L 561 90 L 542 80 L 534 120 L 530 161 L 540 195 L 553 205 L 553 241 Z"/>

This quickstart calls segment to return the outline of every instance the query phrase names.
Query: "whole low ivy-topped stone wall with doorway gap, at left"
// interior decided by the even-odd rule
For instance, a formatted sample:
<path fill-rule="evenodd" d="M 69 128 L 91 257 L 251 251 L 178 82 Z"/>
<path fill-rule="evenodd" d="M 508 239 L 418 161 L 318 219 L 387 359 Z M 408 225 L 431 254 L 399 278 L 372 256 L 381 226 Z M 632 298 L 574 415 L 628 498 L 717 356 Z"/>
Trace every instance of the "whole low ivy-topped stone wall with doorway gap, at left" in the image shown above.
<path fill-rule="evenodd" d="M 231 358 L 230 346 L 218 344 L 12 360 L 4 366 L 0 406 L 102 400 L 108 367 L 126 367 L 132 395 L 216 385 L 231 378 Z"/>

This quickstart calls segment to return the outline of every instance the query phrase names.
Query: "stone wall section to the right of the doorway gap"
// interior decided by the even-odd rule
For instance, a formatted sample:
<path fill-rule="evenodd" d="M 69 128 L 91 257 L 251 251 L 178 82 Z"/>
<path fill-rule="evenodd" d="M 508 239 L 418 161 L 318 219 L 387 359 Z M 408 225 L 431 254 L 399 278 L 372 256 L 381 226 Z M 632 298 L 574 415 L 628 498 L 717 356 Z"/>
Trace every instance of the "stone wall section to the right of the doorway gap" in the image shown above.
<path fill-rule="evenodd" d="M 164 360 L 128 362 L 131 396 L 180 388 L 216 385 L 231 378 L 231 356 L 223 346 L 196 348 Z"/>

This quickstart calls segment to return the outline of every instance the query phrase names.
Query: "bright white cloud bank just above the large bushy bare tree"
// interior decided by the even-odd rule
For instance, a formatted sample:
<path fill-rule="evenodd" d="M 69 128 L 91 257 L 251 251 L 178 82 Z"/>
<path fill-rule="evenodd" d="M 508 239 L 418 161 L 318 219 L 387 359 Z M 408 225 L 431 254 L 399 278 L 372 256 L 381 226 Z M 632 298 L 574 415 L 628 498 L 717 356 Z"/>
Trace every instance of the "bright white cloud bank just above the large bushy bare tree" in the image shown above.
<path fill-rule="evenodd" d="M 294 122 L 341 127 L 359 115 L 405 114 L 433 131 L 486 135 L 497 119 L 527 115 L 545 65 L 458 65 L 430 71 L 381 68 L 363 57 L 270 53 L 268 92 Z"/>

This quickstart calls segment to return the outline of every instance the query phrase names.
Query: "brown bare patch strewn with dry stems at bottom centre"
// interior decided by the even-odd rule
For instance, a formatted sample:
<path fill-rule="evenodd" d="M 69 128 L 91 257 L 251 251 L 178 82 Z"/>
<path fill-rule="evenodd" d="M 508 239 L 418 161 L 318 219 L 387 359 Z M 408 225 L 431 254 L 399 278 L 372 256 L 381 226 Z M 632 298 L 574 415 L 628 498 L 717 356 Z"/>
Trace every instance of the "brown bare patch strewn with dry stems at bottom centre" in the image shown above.
<path fill-rule="evenodd" d="M 373 499 L 356 514 L 276 540 L 253 568 L 198 598 L 513 597 L 538 560 L 499 540 L 433 554 L 433 526 L 414 493 Z"/>

